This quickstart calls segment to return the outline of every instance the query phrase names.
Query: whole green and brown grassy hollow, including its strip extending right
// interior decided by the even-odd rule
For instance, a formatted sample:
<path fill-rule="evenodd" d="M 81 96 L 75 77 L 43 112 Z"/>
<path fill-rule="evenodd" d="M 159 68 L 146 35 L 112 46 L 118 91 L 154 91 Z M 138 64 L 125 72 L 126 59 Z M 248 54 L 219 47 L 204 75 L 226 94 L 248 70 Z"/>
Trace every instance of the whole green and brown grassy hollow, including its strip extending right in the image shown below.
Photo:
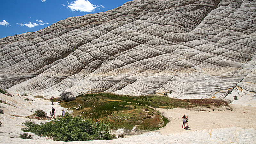
<path fill-rule="evenodd" d="M 165 96 L 125 96 L 110 93 L 85 94 L 76 97 L 76 100 L 61 102 L 61 106 L 74 110 L 73 114 L 81 115 L 84 119 L 107 118 L 111 128 L 122 128 L 132 130 L 137 125 L 140 130 L 157 130 L 166 125 L 169 120 L 155 108 L 192 108 L 204 106 L 206 108 L 227 105 L 223 100 L 197 99 L 181 100 Z"/>

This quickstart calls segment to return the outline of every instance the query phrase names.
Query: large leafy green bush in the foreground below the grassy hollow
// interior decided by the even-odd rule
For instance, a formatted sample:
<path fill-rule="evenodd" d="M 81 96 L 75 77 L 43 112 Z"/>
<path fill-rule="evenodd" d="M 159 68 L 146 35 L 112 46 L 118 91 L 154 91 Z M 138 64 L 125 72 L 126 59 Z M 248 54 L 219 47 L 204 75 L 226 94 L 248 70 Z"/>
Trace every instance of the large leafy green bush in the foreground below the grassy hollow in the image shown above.
<path fill-rule="evenodd" d="M 81 117 L 72 117 L 69 112 L 65 113 L 65 117 L 56 118 L 45 124 L 38 125 L 31 120 L 23 124 L 26 125 L 26 128 L 22 129 L 22 131 L 48 136 L 58 141 L 113 139 L 108 122 L 92 123 L 89 119 L 83 120 Z"/>

